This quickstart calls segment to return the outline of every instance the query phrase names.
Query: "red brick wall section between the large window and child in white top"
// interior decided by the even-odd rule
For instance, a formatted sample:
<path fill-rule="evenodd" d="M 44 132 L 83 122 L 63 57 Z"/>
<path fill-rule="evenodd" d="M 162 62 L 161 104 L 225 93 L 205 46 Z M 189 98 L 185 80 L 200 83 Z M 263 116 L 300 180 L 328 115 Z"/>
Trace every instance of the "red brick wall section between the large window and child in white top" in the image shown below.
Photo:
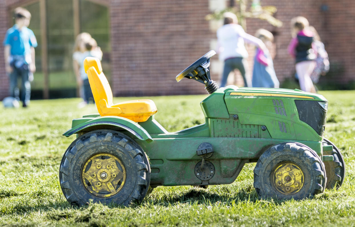
<path fill-rule="evenodd" d="M 209 51 L 208 1 L 112 0 L 114 95 L 204 93 L 175 76 Z"/>

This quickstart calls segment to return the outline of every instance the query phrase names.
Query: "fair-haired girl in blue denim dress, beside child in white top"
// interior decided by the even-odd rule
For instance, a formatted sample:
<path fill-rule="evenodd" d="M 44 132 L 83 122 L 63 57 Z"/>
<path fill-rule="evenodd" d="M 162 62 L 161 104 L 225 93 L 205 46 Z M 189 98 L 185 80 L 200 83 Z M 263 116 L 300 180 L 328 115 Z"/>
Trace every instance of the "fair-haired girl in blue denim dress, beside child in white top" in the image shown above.
<path fill-rule="evenodd" d="M 260 48 L 256 48 L 252 86 L 279 88 L 280 83 L 276 77 L 274 63 L 272 61 L 272 57 L 269 51 L 267 50 L 272 46 L 274 36 L 268 30 L 259 29 L 256 31 L 255 37 L 261 39 L 261 41 L 265 43 L 267 48 L 264 51 Z"/>

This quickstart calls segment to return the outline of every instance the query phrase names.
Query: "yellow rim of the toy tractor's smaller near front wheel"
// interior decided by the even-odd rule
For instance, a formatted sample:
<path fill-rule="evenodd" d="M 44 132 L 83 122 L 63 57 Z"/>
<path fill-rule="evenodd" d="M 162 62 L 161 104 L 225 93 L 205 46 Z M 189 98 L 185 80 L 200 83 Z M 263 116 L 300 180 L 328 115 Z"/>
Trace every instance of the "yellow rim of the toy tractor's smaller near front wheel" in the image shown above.
<path fill-rule="evenodd" d="M 272 174 L 277 191 L 292 195 L 301 190 L 304 184 L 304 174 L 301 168 L 291 162 L 280 164 Z"/>

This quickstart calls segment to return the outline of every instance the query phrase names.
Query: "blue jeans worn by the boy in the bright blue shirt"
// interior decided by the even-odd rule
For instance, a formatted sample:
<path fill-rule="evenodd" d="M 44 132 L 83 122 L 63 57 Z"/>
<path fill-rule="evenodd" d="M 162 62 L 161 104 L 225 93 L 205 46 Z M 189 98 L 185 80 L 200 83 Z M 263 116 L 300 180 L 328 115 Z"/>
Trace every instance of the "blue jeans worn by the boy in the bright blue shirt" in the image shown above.
<path fill-rule="evenodd" d="M 21 95 L 20 100 L 23 104 L 29 104 L 31 98 L 31 83 L 28 80 L 28 65 L 24 64 L 20 68 L 12 67 L 13 71 L 9 75 L 10 87 L 9 92 L 10 96 L 15 97 L 15 88 L 17 87 L 17 80 L 21 78 Z"/>

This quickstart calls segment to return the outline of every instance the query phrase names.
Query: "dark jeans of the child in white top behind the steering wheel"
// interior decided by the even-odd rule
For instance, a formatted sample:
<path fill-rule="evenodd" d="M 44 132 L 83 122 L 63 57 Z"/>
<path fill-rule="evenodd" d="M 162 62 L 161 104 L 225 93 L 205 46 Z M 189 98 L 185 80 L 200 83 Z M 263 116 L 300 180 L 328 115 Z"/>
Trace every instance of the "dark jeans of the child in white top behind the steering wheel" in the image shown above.
<path fill-rule="evenodd" d="M 246 80 L 245 71 L 247 69 L 246 59 L 236 57 L 228 58 L 224 61 L 223 75 L 220 87 L 225 87 L 227 78 L 232 70 L 238 69 L 244 80 L 244 87 L 250 87 L 250 83 Z"/>

